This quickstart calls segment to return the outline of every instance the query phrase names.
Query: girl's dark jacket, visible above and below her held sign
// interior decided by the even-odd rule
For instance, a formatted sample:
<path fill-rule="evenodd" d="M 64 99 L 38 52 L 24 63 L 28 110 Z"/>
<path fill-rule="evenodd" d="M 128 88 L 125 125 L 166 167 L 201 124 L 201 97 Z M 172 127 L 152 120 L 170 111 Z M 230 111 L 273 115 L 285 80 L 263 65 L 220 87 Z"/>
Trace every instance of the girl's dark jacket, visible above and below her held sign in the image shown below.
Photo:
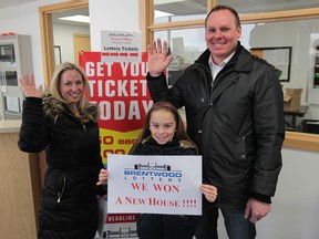
<path fill-rule="evenodd" d="M 196 155 L 193 143 L 174 138 L 160 145 L 152 137 L 140 143 L 133 155 Z M 192 165 L 189 165 L 192 167 Z M 166 236 L 165 236 L 166 233 Z M 138 216 L 137 235 L 141 239 L 150 238 L 193 238 L 195 233 L 195 217 L 179 215 L 148 215 Z"/>

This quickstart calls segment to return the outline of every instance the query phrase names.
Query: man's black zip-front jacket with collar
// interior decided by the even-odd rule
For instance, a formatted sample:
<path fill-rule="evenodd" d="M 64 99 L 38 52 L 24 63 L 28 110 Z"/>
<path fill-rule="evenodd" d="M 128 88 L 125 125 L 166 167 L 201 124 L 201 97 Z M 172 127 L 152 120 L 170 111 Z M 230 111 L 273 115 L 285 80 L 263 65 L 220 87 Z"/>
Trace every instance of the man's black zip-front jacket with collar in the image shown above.
<path fill-rule="evenodd" d="M 164 74 L 148 73 L 152 98 L 185 106 L 187 133 L 203 155 L 206 183 L 218 188 L 219 206 L 245 207 L 250 197 L 270 202 L 285 137 L 276 70 L 238 42 L 212 84 L 209 56 L 206 50 L 169 90 Z"/>

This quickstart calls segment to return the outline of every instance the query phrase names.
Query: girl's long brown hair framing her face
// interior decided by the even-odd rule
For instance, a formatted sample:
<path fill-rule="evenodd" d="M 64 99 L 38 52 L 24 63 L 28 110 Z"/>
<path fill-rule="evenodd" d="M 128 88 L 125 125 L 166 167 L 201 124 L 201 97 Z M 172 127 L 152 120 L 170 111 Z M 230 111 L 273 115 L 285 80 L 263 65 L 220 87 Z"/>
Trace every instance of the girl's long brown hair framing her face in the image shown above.
<path fill-rule="evenodd" d="M 174 115 L 174 118 L 175 118 L 175 122 L 176 122 L 176 132 L 175 132 L 175 135 L 174 137 L 177 138 L 178 141 L 188 141 L 191 142 L 196 150 L 197 150 L 197 147 L 195 145 L 195 143 L 189 138 L 189 136 L 187 135 L 186 133 L 186 129 L 185 129 L 185 126 L 184 126 L 184 122 L 181 117 L 181 114 L 179 112 L 177 111 L 177 108 L 172 105 L 171 103 L 168 102 L 158 102 L 156 104 L 154 104 L 151 110 L 147 112 L 146 114 L 146 117 L 145 117 L 145 123 L 144 123 L 144 128 L 142 131 L 142 133 L 140 134 L 138 138 L 136 139 L 135 144 L 132 146 L 131 150 L 128 152 L 128 154 L 133 154 L 136 146 L 138 144 L 141 144 L 141 142 L 146 138 L 146 137 L 150 137 L 151 136 L 151 131 L 150 131 L 150 122 L 151 122 L 151 116 L 152 116 L 152 113 L 153 112 L 156 112 L 156 111 L 166 111 L 166 112 L 171 112 L 173 115 Z"/>

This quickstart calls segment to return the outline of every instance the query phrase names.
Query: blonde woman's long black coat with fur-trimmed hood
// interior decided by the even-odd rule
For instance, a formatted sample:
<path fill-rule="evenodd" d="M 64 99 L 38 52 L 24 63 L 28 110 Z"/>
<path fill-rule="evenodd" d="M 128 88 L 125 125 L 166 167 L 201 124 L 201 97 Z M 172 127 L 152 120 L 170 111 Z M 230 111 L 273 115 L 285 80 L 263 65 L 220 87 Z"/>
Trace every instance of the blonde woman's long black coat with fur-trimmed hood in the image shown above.
<path fill-rule="evenodd" d="M 96 107 L 92 107 L 96 114 Z M 39 239 L 94 238 L 97 227 L 100 169 L 97 123 L 83 123 L 52 96 L 23 102 L 19 147 L 47 152 L 48 169 L 39 214 Z"/>

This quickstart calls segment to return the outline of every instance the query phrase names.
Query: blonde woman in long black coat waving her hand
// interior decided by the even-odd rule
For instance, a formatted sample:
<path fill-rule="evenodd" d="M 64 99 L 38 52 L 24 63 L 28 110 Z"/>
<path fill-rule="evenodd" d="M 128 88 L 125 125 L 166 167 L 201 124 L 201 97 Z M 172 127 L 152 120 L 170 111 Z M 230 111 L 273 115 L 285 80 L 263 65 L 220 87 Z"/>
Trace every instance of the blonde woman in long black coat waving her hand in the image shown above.
<path fill-rule="evenodd" d="M 92 239 L 97 197 L 104 194 L 96 181 L 104 166 L 97 106 L 86 98 L 88 79 L 78 65 L 63 63 L 44 95 L 33 76 L 24 75 L 20 84 L 25 101 L 18 145 L 23 152 L 47 154 L 38 238 Z"/>

